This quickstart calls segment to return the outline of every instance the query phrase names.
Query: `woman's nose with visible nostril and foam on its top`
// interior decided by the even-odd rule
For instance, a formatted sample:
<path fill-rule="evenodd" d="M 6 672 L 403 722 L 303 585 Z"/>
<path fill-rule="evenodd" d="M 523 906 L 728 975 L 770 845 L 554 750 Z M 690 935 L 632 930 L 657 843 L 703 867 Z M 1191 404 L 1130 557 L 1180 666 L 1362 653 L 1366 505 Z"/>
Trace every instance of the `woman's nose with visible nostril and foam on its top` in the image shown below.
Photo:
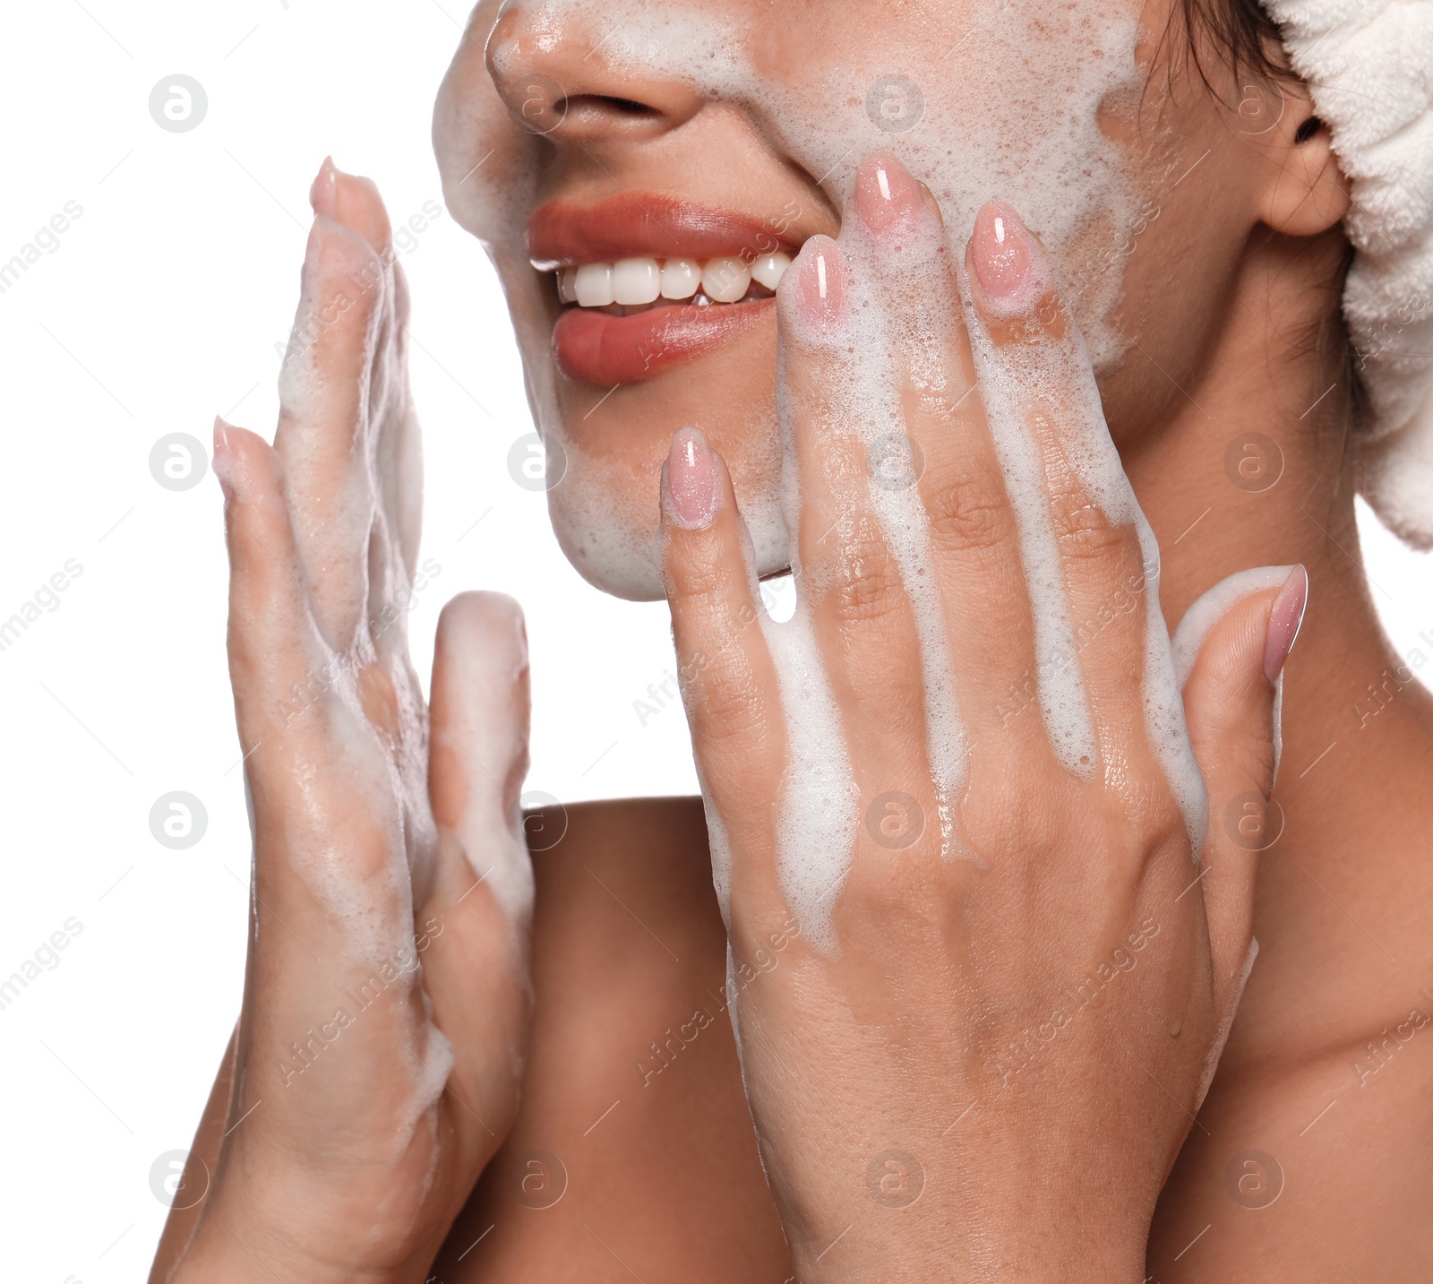
<path fill-rule="evenodd" d="M 689 85 L 619 50 L 590 11 L 519 0 L 493 27 L 487 72 L 513 119 L 557 145 L 651 139 L 701 110 Z"/>

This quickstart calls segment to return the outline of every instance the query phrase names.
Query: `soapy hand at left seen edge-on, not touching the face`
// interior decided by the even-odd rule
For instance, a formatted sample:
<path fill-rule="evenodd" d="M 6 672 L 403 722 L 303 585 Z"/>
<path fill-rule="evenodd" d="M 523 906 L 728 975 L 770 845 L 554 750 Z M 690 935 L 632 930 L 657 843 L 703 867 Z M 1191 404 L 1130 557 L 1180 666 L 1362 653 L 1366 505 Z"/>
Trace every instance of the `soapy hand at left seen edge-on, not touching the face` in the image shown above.
<path fill-rule="evenodd" d="M 215 430 L 249 956 L 211 1185 L 155 1280 L 423 1280 L 523 1062 L 523 621 L 450 602 L 424 705 L 407 289 L 371 183 L 325 162 L 312 199 L 274 447 Z"/>

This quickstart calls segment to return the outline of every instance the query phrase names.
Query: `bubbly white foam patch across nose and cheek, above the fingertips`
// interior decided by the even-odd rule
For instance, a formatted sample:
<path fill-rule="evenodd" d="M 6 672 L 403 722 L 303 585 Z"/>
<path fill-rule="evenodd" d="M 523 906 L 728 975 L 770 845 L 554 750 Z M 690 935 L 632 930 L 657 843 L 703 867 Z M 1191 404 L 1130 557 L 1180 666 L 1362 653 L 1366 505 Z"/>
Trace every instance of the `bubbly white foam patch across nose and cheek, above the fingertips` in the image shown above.
<path fill-rule="evenodd" d="M 781 20 L 780 7 L 752 11 L 747 20 L 739 7 L 711 0 L 512 0 L 502 13 L 519 17 L 523 46 L 516 37 L 494 43 L 492 57 L 517 75 L 527 49 L 596 47 L 610 67 L 739 103 L 823 176 L 838 208 L 861 158 L 896 143 L 954 225 L 995 196 L 1016 203 L 1078 285 L 1096 367 L 1118 360 L 1128 342 L 1108 312 L 1122 255 L 1111 251 L 1125 242 L 1135 192 L 1099 118 L 1111 107 L 1129 112 L 1142 87 L 1138 6 L 1092 17 L 1062 0 L 934 4 L 893 21 L 884 43 L 871 33 L 844 49 L 853 62 L 840 64 L 771 57 L 765 24 Z M 887 75 L 891 66 L 904 75 Z M 920 115 L 907 125 L 901 113 L 917 110 L 916 95 Z M 440 136 L 440 150 L 449 142 Z M 500 185 L 496 175 L 486 182 Z"/>

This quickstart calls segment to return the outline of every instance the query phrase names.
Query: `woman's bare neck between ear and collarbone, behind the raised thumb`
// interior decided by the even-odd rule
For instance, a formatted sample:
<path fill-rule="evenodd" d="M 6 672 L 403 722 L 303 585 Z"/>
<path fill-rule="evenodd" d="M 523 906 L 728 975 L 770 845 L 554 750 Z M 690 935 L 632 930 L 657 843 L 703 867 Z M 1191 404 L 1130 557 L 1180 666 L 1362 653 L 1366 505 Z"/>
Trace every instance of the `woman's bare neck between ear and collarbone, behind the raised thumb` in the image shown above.
<path fill-rule="evenodd" d="M 1304 992 L 1317 976 L 1336 1027 L 1366 1023 L 1373 996 L 1389 990 L 1391 1002 L 1417 979 L 1429 950 L 1399 939 L 1394 924 L 1409 897 L 1433 896 L 1422 851 L 1433 824 L 1433 699 L 1413 676 L 1424 656 L 1423 675 L 1433 674 L 1433 642 L 1422 656 L 1394 652 L 1373 602 L 1381 590 L 1363 569 L 1341 335 L 1320 334 L 1320 318 L 1336 315 L 1327 282 L 1341 275 L 1341 252 L 1336 236 L 1310 246 L 1264 234 L 1251 244 L 1198 383 L 1162 431 L 1125 451 L 1159 537 L 1171 628 L 1237 570 L 1308 569 L 1308 613 L 1283 702 L 1275 798 L 1285 828 L 1258 857 L 1255 933 L 1280 960 L 1261 963 L 1265 979 L 1287 964 L 1303 977 L 1293 990 Z M 1433 635 L 1433 610 L 1429 619 Z M 1288 1002 L 1290 990 L 1278 992 Z M 1347 1000 L 1348 1022 L 1333 995 Z M 1293 1050 L 1264 1046 L 1257 1032 L 1287 1040 L 1278 1020 L 1241 1029 L 1231 1053 L 1258 1060 Z"/>

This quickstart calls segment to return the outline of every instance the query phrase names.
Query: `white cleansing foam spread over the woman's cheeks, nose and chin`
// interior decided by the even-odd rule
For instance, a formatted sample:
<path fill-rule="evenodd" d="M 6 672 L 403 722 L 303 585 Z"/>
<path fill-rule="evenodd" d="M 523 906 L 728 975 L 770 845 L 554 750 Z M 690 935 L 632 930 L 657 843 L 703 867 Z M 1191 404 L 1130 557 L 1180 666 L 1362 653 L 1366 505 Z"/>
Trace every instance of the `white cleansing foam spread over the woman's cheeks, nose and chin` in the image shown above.
<path fill-rule="evenodd" d="M 1136 10 L 1134 3 L 1093 13 L 1063 0 L 947 0 L 910 7 L 898 21 L 863 33 L 841 50 L 851 62 L 837 64 L 834 54 L 828 63 L 802 62 L 804 49 L 797 57 L 772 56 L 767 24 L 782 20 L 780 6 L 509 0 L 502 13 L 512 23 L 492 57 L 504 73 L 520 75 L 537 50 L 592 50 L 605 66 L 674 79 L 706 99 L 742 106 L 797 165 L 821 176 L 835 208 L 845 206 L 861 158 L 891 146 L 930 185 L 952 226 L 969 226 L 987 199 L 1013 202 L 1060 267 L 1096 368 L 1105 370 L 1128 347 L 1111 312 L 1138 199 L 1126 159 L 1103 133 L 1099 115 L 1135 100 L 1142 86 Z M 748 13 L 757 17 L 748 20 Z M 466 66 L 470 77 L 483 76 L 476 59 Z M 893 69 L 903 75 L 890 76 Z M 903 83 L 883 96 L 881 85 L 894 80 Z M 913 106 L 911 85 L 923 97 L 920 119 L 891 129 L 901 122 L 886 105 Z M 545 433 L 563 436 L 549 322 L 536 305 L 520 235 L 536 191 L 539 148 L 519 139 L 526 150 L 509 143 L 484 162 L 494 146 L 492 113 L 506 116 L 504 109 L 490 86 L 450 85 L 444 96 L 450 102 L 434 136 L 449 202 L 504 271 L 539 423 Z M 586 504 L 573 480 L 552 504 L 567 532 L 565 547 L 582 549 L 583 575 L 620 596 L 659 596 L 656 567 L 635 573 L 631 565 L 633 556 L 651 557 L 651 490 L 641 504 Z M 787 545 L 775 497 L 748 490 L 744 503 L 761 573 L 780 570 Z M 579 526 L 588 533 L 579 536 Z"/>

